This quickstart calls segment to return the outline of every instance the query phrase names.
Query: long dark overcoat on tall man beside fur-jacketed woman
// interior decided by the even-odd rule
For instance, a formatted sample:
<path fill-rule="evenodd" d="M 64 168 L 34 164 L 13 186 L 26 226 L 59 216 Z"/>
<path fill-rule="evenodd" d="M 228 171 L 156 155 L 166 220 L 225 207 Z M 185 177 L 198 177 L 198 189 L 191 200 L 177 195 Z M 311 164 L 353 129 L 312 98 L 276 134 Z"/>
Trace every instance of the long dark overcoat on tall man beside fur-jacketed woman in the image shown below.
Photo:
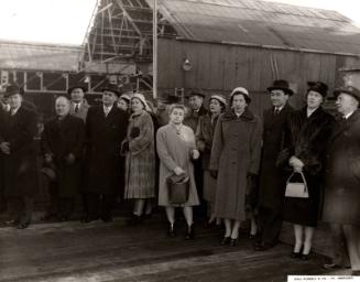
<path fill-rule="evenodd" d="M 284 126 L 293 107 L 286 104 L 279 113 L 274 108 L 266 109 L 263 115 L 263 145 L 260 164 L 259 205 L 276 209 L 284 202 L 284 172 L 276 166 L 277 155 L 282 149 Z"/>

